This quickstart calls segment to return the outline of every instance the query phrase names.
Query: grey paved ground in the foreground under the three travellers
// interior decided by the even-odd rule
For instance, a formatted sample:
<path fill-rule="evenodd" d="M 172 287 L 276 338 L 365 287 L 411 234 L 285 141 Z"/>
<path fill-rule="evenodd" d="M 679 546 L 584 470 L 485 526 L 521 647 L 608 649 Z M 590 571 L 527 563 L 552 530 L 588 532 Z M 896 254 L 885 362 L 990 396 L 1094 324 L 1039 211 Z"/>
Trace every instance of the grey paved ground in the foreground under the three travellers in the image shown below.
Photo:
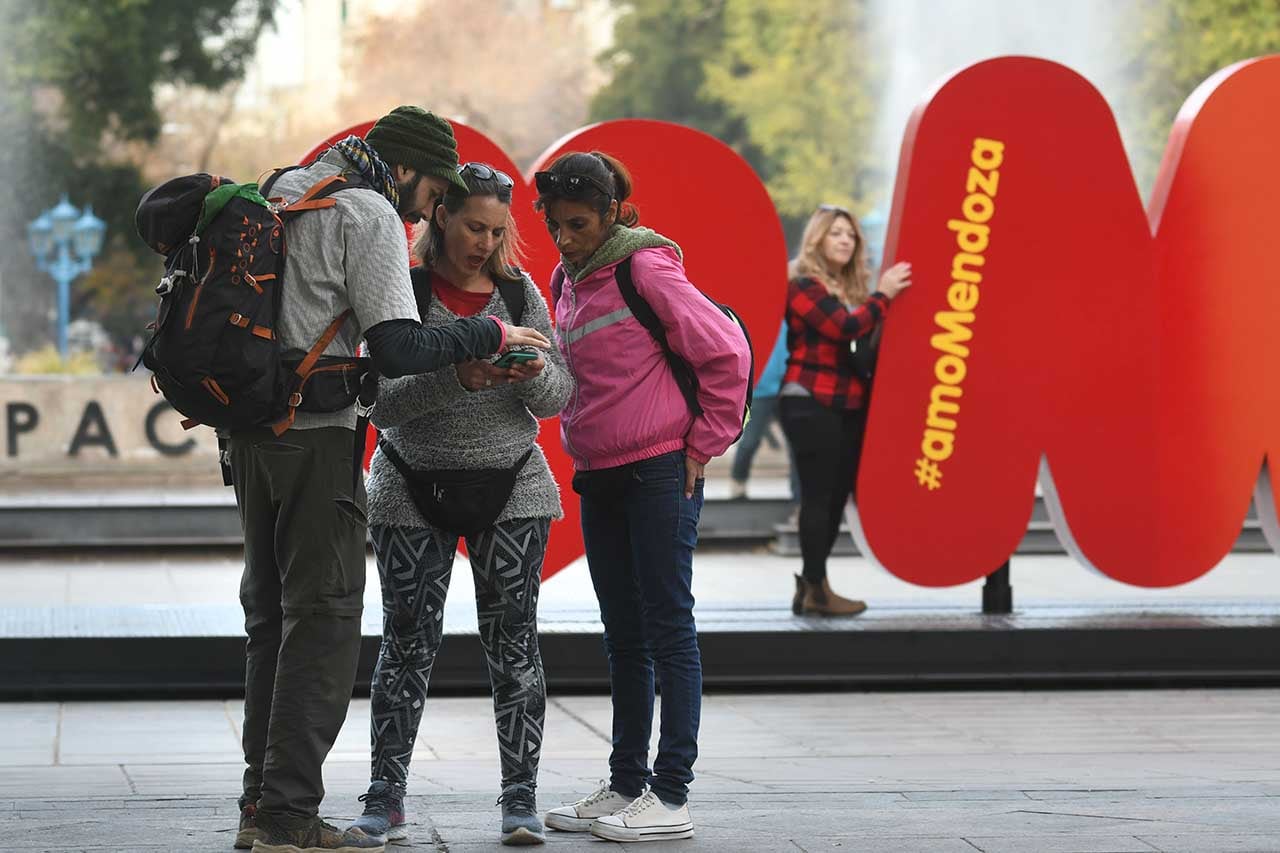
<path fill-rule="evenodd" d="M 448 654 L 448 649 L 444 651 Z M 1280 690 L 714 694 L 690 841 L 550 834 L 556 850 L 1213 853 L 1280 850 Z M 356 815 L 352 703 L 324 813 Z M 0 704 L 0 850 L 230 850 L 238 701 Z M 605 697 L 553 697 L 543 808 L 605 772 Z M 433 699 L 412 839 L 498 849 L 486 698 Z"/>

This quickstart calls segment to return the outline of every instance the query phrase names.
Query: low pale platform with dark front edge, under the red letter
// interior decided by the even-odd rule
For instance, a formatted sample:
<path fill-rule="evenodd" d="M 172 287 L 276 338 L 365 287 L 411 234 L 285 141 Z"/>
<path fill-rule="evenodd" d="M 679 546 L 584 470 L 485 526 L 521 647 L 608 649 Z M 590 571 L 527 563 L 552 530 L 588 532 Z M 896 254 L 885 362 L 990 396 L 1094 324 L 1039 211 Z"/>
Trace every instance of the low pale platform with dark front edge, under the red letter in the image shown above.
<path fill-rule="evenodd" d="M 1016 557 L 1015 611 L 980 612 L 980 581 L 924 589 L 836 558 L 832 583 L 870 602 L 856 619 L 795 617 L 795 560 L 700 549 L 694 569 L 708 689 L 1028 685 L 1280 685 L 1280 571 L 1231 555 L 1192 584 L 1137 589 L 1065 557 Z M 0 556 L 0 697 L 234 694 L 242 683 L 238 552 Z M 440 692 L 488 686 L 471 576 L 445 607 Z M 370 565 L 362 689 L 381 633 Z M 550 578 L 540 635 L 554 689 L 605 690 L 585 561 Z"/>

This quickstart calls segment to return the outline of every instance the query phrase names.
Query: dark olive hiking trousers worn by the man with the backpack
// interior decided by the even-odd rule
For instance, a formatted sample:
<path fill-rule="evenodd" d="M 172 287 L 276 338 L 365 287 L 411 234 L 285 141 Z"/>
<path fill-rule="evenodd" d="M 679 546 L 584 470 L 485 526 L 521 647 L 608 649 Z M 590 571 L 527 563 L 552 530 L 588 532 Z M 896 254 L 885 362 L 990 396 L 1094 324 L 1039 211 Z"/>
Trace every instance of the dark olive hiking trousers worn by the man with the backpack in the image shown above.
<path fill-rule="evenodd" d="M 365 593 L 365 487 L 352 494 L 352 432 L 232 435 L 244 528 L 243 803 L 314 817 L 320 767 L 356 680 Z"/>

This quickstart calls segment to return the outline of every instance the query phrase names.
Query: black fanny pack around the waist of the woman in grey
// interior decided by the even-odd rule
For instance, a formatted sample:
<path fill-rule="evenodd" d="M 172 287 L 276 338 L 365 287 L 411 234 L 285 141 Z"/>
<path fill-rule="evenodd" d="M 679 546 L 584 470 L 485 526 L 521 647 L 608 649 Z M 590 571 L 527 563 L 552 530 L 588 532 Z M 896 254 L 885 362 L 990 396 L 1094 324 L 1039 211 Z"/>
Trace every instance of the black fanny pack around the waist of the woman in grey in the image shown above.
<path fill-rule="evenodd" d="M 461 537 L 471 537 L 493 526 L 511 500 L 516 475 L 534 455 L 534 448 L 530 447 L 511 467 L 419 471 L 410 467 L 385 438 L 379 438 L 378 446 L 404 478 L 408 496 L 422 520 Z"/>

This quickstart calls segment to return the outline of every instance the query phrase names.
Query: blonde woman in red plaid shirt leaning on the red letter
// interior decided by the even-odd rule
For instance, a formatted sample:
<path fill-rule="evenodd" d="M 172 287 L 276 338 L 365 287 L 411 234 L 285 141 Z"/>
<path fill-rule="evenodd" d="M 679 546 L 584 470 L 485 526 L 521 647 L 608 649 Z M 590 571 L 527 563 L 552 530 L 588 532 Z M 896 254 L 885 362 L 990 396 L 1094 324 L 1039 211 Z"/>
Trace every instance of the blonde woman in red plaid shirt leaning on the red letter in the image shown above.
<path fill-rule="evenodd" d="M 911 265 L 897 263 L 868 295 L 870 270 L 861 228 L 844 207 L 822 205 L 805 225 L 787 284 L 787 371 L 781 419 L 800 474 L 800 553 L 791 612 L 854 616 L 867 610 L 827 580 L 845 502 L 858 479 L 867 387 L 854 370 L 854 348 L 911 284 Z"/>

